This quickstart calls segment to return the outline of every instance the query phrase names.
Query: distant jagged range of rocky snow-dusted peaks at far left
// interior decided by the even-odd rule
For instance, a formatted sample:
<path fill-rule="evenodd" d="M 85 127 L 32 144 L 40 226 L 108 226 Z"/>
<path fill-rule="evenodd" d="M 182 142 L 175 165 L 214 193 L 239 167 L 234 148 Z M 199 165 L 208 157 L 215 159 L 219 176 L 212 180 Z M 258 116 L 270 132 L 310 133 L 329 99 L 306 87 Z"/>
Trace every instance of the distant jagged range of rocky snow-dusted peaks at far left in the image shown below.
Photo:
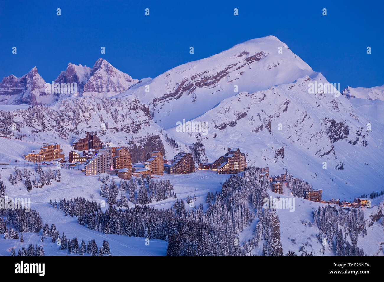
<path fill-rule="evenodd" d="M 37 68 L 21 78 L 14 75 L 3 78 L 0 82 L 0 104 L 4 105 L 49 105 L 70 96 L 111 97 L 122 93 L 136 83 L 126 73 L 114 68 L 108 61 L 99 58 L 93 68 L 69 63 L 55 79 L 52 87 L 46 87 L 51 81 L 44 81 Z M 55 91 L 56 84 L 76 84 L 73 93 L 70 91 Z M 46 91 L 48 89 L 48 91 Z M 53 91 L 52 91 L 53 90 Z"/>

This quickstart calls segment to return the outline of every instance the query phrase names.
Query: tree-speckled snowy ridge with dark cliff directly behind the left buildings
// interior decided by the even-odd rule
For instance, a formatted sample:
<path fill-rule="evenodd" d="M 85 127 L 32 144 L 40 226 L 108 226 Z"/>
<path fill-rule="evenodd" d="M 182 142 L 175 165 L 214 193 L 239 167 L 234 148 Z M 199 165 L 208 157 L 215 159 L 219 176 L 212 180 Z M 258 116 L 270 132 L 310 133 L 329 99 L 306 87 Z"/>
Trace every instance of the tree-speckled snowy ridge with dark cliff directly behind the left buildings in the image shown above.
<path fill-rule="evenodd" d="M 132 162 L 144 160 L 154 150 L 172 158 L 177 150 L 187 149 L 169 145 L 166 131 L 153 122 L 148 106 L 138 100 L 69 97 L 50 107 L 15 110 L 12 117 L 8 113 L 0 111 L 0 134 L 35 140 L 39 143 L 36 148 L 42 143 L 60 143 L 67 157 L 73 141 L 85 131 L 96 133 L 105 145 L 129 147 Z M 13 124 L 17 130 L 12 131 Z"/>

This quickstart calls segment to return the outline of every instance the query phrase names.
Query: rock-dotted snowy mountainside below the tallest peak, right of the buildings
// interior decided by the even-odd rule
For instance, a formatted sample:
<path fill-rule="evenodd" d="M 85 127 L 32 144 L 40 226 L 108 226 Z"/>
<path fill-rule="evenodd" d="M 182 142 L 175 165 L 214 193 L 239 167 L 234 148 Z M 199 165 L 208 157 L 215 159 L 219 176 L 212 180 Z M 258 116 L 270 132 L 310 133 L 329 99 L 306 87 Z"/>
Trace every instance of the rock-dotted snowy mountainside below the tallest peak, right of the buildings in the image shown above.
<path fill-rule="evenodd" d="M 326 79 L 316 74 L 263 91 L 240 92 L 191 120 L 207 124 L 206 131 L 173 127 L 167 133 L 180 143 L 203 143 L 211 162 L 227 147 L 238 147 L 247 153 L 248 165 L 286 168 L 323 189 L 325 198 L 353 200 L 383 180 L 384 124 L 342 95 L 308 94 L 314 81 Z M 375 130 L 367 130 L 368 123 Z"/>

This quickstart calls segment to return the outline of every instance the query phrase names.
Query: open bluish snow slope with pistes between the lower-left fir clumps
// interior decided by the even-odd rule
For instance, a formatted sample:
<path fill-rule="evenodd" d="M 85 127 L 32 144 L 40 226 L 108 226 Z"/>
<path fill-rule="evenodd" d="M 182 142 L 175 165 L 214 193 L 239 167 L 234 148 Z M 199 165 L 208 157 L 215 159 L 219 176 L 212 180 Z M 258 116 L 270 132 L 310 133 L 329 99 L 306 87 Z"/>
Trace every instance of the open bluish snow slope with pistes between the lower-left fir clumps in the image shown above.
<path fill-rule="evenodd" d="M 96 232 L 78 224 L 76 217 L 71 218 L 65 216 L 62 211 L 58 211 L 49 205 L 50 200 L 60 199 L 73 199 L 75 197 L 86 198 L 89 201 L 100 202 L 106 200 L 100 196 L 100 181 L 97 180 L 98 176 L 85 176 L 83 172 L 76 170 L 61 169 L 61 181 L 53 183 L 43 188 L 35 188 L 30 192 L 25 190 L 23 182 L 18 182 L 17 185 L 12 185 L 8 181 L 8 175 L 14 173 L 13 167 L 23 168 L 26 167 L 30 172 L 35 170 L 33 164 L 24 164 L 23 162 L 15 162 L 15 159 L 21 159 L 24 152 L 28 152 L 37 147 L 38 144 L 31 142 L 23 142 L 19 140 L 10 140 L 7 138 L 0 138 L 0 148 L 12 147 L 13 150 L 0 150 L 0 160 L 10 160 L 9 167 L 3 167 L 0 170 L 1 180 L 7 187 L 6 193 L 9 198 L 26 198 L 30 199 L 30 208 L 36 209 L 42 220 L 43 225 L 47 223 L 51 226 L 55 223 L 60 235 L 65 233 L 67 238 L 71 239 L 77 237 L 78 240 L 88 241 L 88 239 L 95 239 L 96 244 L 101 246 L 103 240 L 109 242 L 111 254 L 114 256 L 165 256 L 167 249 L 167 242 L 163 240 L 153 239 L 149 246 L 146 245 L 145 238 L 142 237 L 129 237 L 120 236 L 115 234 L 104 234 Z M 56 169 L 55 166 L 43 167 L 44 170 Z M 115 178 L 119 183 L 118 178 Z M 21 188 L 21 189 L 20 189 Z M 133 204 L 132 204 L 133 205 Z M 108 208 L 108 207 L 107 207 Z M 8 225 L 8 229 L 9 229 Z M 40 242 L 40 233 L 23 233 L 24 242 L 20 240 L 3 239 L 0 236 L 0 256 L 9 256 L 10 249 L 15 248 L 16 252 L 22 247 L 28 248 L 30 244 L 34 246 L 43 245 L 46 256 L 65 256 L 66 251 L 59 251 L 56 242 L 52 243 L 50 237 L 46 237 L 44 242 Z"/>

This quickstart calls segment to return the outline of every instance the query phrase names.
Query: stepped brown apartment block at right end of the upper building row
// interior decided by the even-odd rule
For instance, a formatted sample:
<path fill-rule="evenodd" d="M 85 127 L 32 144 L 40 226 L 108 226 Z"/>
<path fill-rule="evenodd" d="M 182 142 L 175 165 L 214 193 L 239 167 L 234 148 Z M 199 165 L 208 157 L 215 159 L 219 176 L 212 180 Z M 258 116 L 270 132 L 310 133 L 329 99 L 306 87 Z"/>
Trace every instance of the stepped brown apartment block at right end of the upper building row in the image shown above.
<path fill-rule="evenodd" d="M 228 148 L 225 155 L 210 164 L 210 169 L 217 170 L 217 173 L 235 174 L 242 172 L 246 167 L 245 154 L 240 152 L 239 148 Z"/>

